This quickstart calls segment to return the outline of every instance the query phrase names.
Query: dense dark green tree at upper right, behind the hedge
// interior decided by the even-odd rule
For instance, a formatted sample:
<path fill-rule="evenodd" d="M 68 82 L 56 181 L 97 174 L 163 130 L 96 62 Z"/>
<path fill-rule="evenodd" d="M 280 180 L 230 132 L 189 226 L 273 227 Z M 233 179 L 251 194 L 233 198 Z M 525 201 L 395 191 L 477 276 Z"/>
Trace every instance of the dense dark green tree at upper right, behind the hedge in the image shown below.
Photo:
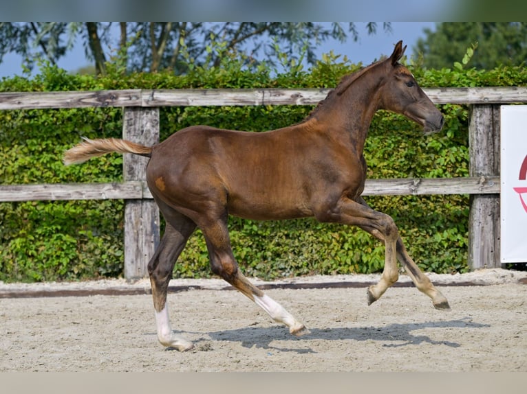
<path fill-rule="evenodd" d="M 451 68 L 460 62 L 466 49 L 477 43 L 470 67 L 493 69 L 499 65 L 521 65 L 527 58 L 527 23 L 524 22 L 445 22 L 435 32 L 425 29 L 414 53 L 422 54 L 423 66 Z"/>

